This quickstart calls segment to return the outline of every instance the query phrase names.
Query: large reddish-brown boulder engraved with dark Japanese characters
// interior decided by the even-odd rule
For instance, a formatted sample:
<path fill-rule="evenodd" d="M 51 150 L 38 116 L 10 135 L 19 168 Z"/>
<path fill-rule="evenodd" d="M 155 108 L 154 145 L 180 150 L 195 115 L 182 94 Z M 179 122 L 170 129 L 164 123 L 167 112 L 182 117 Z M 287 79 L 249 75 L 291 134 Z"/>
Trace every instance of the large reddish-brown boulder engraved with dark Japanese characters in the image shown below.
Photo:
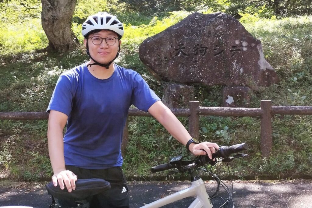
<path fill-rule="evenodd" d="M 144 40 L 139 57 L 163 81 L 257 90 L 279 80 L 264 57 L 261 41 L 222 12 L 190 14 Z"/>

